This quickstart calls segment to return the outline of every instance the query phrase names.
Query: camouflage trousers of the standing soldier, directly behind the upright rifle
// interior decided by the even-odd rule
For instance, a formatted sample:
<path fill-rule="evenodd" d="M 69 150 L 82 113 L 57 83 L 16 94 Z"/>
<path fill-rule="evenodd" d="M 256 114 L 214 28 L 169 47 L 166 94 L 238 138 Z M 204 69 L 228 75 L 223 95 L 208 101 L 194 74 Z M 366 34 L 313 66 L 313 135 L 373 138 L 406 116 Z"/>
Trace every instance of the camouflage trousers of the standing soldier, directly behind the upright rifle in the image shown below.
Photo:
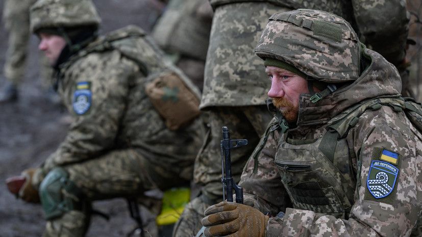
<path fill-rule="evenodd" d="M 232 177 L 239 182 L 243 167 L 257 146 L 272 114 L 266 106 L 213 107 L 209 111 L 210 131 L 195 160 L 194 181 L 202 185 L 202 194 L 185 206 L 173 236 L 194 236 L 201 229 L 204 210 L 222 201 L 221 149 L 222 126 L 232 139 L 247 139 L 248 144 L 231 151 Z M 194 232 L 194 234 L 192 234 Z"/>

